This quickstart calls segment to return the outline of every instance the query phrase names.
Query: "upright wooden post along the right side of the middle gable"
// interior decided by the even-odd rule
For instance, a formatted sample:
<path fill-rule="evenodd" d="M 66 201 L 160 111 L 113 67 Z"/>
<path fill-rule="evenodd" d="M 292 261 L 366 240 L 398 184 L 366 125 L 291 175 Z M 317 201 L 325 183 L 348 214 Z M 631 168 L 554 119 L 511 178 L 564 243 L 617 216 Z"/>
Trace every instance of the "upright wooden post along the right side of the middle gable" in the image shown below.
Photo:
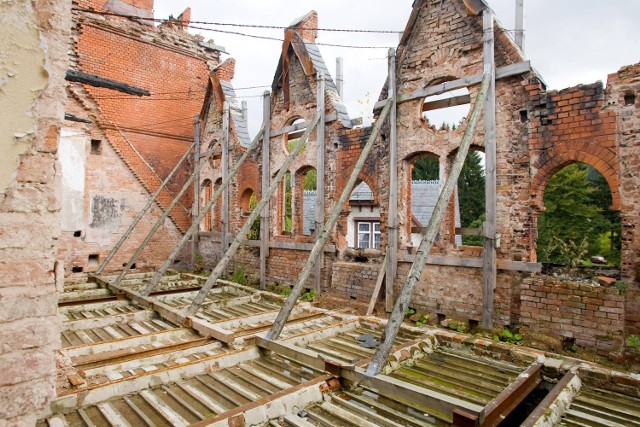
<path fill-rule="evenodd" d="M 325 152 L 325 105 L 324 105 L 325 80 L 324 74 L 318 73 L 318 95 L 317 107 L 320 120 L 318 120 L 318 128 L 316 130 L 316 139 L 318 142 L 318 163 L 316 168 L 316 209 L 315 209 L 315 233 L 316 241 L 320 238 L 320 229 L 324 225 L 324 152 Z M 303 183 L 304 185 L 304 183 Z M 303 189 L 304 193 L 304 189 Z M 315 265 L 315 290 L 320 293 L 320 284 L 322 279 L 322 264 L 324 263 L 324 254 L 321 252 L 318 262 Z"/>

